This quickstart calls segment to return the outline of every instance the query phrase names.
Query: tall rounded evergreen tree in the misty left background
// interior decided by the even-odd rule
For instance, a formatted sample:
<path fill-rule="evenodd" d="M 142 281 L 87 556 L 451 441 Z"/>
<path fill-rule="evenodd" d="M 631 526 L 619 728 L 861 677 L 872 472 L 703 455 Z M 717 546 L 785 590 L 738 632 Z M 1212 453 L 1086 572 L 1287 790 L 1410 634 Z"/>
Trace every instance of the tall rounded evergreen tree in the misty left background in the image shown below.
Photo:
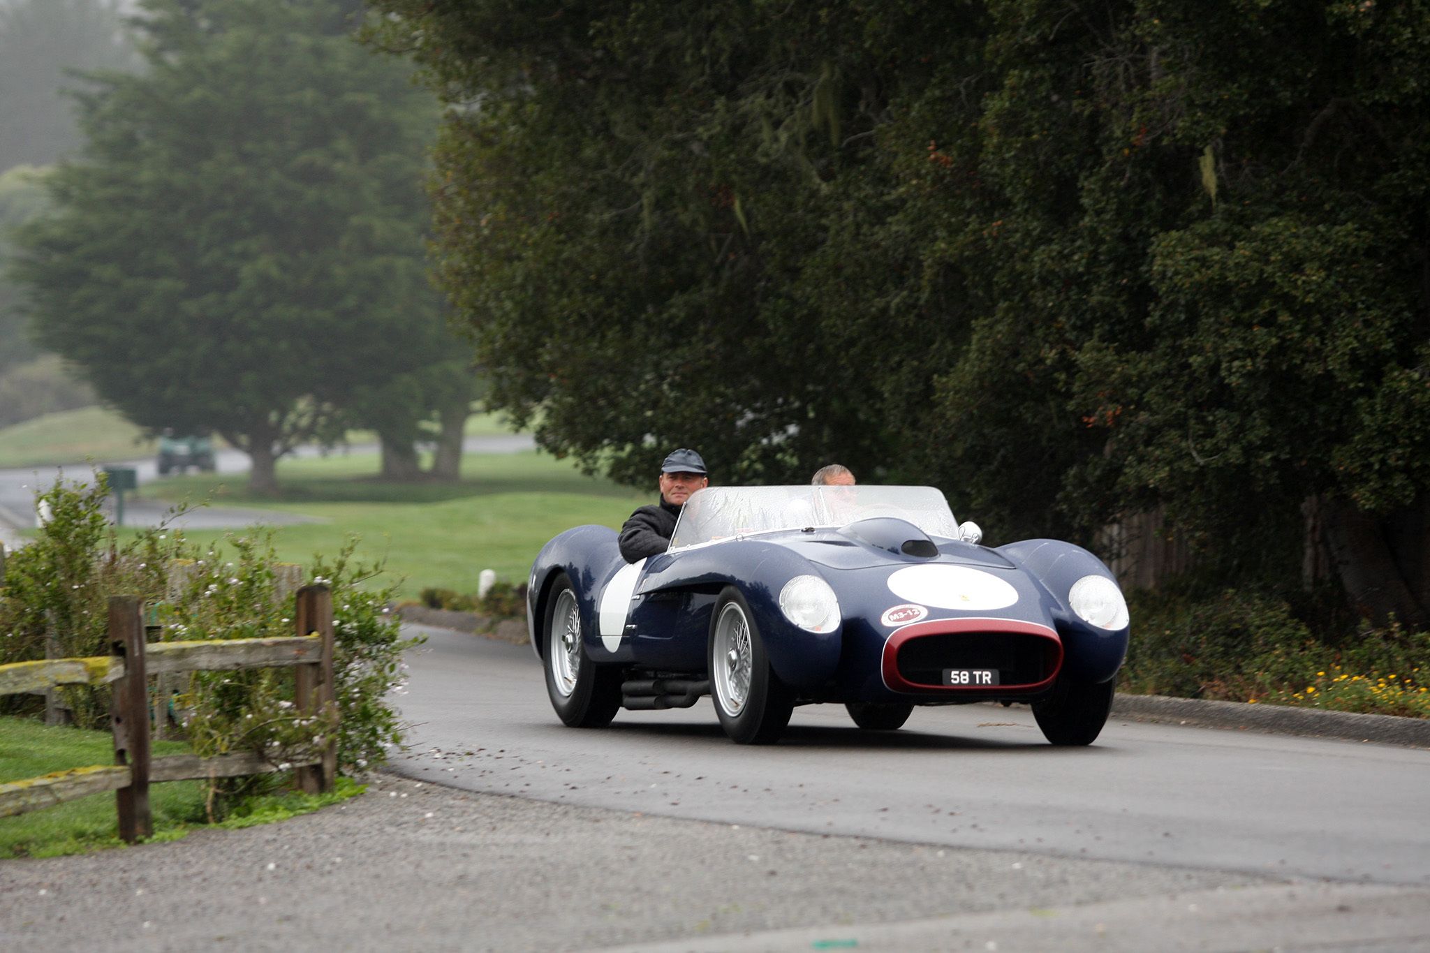
<path fill-rule="evenodd" d="M 20 233 L 43 344 L 149 429 L 275 461 L 433 360 L 422 233 L 436 104 L 337 0 L 146 0 L 142 76 L 82 99 L 83 157 Z"/>

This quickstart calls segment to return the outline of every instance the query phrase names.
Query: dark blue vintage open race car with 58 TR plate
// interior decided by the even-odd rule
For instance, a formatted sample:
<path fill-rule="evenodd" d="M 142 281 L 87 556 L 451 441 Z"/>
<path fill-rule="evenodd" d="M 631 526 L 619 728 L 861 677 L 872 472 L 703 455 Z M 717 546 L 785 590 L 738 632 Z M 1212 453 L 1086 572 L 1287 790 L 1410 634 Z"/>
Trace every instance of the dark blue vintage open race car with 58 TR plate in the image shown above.
<path fill-rule="evenodd" d="M 551 540 L 526 622 L 573 727 L 711 694 L 758 744 L 797 704 L 891 730 L 915 704 L 1027 702 L 1050 742 L 1090 744 L 1127 653 L 1113 573 L 1071 543 L 980 539 L 932 487 L 709 487 L 639 563 L 603 526 Z"/>

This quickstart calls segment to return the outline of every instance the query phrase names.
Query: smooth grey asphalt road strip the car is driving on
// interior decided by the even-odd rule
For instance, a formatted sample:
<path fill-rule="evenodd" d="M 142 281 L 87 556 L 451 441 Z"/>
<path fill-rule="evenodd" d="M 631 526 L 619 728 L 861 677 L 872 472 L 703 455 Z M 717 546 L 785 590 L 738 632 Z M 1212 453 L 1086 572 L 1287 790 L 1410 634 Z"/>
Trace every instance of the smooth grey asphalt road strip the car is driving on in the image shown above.
<path fill-rule="evenodd" d="M 529 646 L 428 630 L 410 657 L 409 777 L 563 804 L 1247 874 L 1430 887 L 1430 752 L 1114 720 L 1044 743 L 1031 712 L 915 710 L 894 733 L 795 712 L 771 747 L 708 702 L 563 727 Z"/>

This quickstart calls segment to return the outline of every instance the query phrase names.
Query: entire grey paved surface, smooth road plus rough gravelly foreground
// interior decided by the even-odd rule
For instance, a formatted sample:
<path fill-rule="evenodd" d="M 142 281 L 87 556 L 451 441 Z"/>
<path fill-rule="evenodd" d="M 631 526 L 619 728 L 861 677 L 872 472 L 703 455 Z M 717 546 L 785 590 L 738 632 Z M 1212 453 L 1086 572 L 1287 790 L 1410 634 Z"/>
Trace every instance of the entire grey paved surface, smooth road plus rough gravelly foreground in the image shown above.
<path fill-rule="evenodd" d="M 1423 750 L 1114 723 L 1061 752 L 988 706 L 879 737 L 802 710 L 769 749 L 708 707 L 575 732 L 529 647 L 428 632 L 396 767 L 440 784 L 0 862 L 4 949 L 1430 950 Z"/>

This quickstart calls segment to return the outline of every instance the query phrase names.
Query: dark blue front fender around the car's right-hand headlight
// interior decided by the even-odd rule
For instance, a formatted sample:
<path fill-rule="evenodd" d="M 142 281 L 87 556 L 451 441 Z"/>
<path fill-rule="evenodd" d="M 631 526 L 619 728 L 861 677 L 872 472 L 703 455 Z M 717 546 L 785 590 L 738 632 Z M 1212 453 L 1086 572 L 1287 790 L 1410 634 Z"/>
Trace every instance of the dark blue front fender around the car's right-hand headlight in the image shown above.
<path fill-rule="evenodd" d="M 1078 679 L 1094 683 L 1117 676 L 1127 657 L 1131 629 L 1098 629 L 1083 622 L 1068 604 L 1072 583 L 1084 576 L 1105 576 L 1115 583 L 1113 570 L 1081 546 L 1061 540 L 1022 540 L 1000 546 L 997 552 L 1032 573 L 1052 596 L 1051 614 L 1065 653 L 1062 667 Z"/>

